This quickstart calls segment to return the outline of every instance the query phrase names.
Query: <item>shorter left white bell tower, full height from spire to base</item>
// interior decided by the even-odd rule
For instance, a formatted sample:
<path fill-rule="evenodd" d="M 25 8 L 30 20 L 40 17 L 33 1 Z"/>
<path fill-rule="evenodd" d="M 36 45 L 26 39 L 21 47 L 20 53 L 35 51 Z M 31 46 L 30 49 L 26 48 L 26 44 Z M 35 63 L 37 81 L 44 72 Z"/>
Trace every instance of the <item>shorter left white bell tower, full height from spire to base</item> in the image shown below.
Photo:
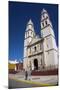
<path fill-rule="evenodd" d="M 35 36 L 34 32 L 34 25 L 32 20 L 30 19 L 27 23 L 26 26 L 26 31 L 25 31 L 25 39 L 24 39 L 24 68 L 26 68 L 26 63 L 27 63 L 27 46 L 30 44 L 31 40 Z"/>

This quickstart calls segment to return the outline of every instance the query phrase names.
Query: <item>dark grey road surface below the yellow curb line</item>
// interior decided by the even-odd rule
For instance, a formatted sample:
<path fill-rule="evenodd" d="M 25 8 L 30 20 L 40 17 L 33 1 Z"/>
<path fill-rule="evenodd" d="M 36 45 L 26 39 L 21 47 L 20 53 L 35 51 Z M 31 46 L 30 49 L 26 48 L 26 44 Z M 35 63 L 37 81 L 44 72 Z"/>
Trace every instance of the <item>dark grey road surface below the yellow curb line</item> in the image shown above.
<path fill-rule="evenodd" d="M 33 84 L 33 83 L 26 83 L 22 81 L 17 81 L 15 79 L 9 79 L 9 89 L 13 88 L 29 88 L 29 87 L 40 87 L 38 84 Z"/>

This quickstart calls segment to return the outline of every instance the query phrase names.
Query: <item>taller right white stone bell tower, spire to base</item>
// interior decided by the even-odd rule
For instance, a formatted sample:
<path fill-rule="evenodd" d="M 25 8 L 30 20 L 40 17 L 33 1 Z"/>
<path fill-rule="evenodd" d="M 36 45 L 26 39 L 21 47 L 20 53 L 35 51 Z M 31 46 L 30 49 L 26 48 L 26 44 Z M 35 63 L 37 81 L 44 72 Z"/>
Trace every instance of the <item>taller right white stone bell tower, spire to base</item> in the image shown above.
<path fill-rule="evenodd" d="M 57 45 L 50 17 L 45 9 L 41 12 L 41 37 L 44 39 L 45 66 L 57 66 Z"/>

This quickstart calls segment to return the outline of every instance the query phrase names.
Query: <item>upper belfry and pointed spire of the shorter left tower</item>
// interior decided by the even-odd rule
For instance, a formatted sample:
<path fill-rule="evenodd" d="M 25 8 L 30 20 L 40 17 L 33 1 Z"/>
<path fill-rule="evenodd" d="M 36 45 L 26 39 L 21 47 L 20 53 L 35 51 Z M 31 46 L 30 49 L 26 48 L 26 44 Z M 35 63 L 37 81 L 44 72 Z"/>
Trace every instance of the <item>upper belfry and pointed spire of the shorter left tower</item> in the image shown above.
<path fill-rule="evenodd" d="M 26 26 L 26 31 L 25 31 L 25 46 L 29 45 L 31 42 L 32 38 L 34 37 L 34 25 L 32 20 L 30 19 L 29 22 L 27 23 Z"/>

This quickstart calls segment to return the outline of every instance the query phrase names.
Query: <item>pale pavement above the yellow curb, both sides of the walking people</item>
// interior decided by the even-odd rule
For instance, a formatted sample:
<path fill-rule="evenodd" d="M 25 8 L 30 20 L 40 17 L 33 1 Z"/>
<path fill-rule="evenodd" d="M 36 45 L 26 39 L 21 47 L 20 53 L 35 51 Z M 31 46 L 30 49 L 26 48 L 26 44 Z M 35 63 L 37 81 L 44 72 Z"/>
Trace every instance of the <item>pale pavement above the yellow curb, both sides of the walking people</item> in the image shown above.
<path fill-rule="evenodd" d="M 17 74 L 9 74 L 9 78 L 17 79 L 17 80 L 25 80 L 24 72 L 19 72 Z M 28 77 L 28 80 L 33 82 L 39 82 L 42 84 L 51 84 L 51 85 L 57 85 L 58 83 L 58 76 L 57 75 L 51 75 L 51 76 L 31 76 Z"/>

